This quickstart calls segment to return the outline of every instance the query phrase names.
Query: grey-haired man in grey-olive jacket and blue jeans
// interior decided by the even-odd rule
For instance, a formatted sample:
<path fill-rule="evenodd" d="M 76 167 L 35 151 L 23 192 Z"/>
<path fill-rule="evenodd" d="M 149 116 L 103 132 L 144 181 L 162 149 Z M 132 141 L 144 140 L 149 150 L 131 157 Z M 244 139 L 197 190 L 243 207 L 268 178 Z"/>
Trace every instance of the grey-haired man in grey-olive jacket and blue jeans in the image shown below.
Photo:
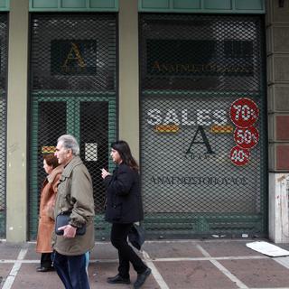
<path fill-rule="evenodd" d="M 94 247 L 94 200 L 88 169 L 79 158 L 79 144 L 72 135 L 61 135 L 56 146 L 58 162 L 64 165 L 58 185 L 55 218 L 70 213 L 69 224 L 53 234 L 53 266 L 66 289 L 89 289 L 85 253 Z M 86 226 L 84 235 L 77 228 Z"/>

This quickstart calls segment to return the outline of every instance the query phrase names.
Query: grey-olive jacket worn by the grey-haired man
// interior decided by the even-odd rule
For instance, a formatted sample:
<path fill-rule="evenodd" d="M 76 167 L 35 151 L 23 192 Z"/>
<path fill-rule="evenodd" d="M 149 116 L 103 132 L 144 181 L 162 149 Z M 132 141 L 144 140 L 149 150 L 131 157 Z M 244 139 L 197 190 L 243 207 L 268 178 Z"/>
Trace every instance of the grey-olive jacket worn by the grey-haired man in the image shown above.
<path fill-rule="evenodd" d="M 79 156 L 73 157 L 61 173 L 55 202 L 54 215 L 71 211 L 70 224 L 86 225 L 86 233 L 75 238 L 63 238 L 53 233 L 52 247 L 58 253 L 77 256 L 94 247 L 94 199 L 92 181 L 88 169 Z"/>

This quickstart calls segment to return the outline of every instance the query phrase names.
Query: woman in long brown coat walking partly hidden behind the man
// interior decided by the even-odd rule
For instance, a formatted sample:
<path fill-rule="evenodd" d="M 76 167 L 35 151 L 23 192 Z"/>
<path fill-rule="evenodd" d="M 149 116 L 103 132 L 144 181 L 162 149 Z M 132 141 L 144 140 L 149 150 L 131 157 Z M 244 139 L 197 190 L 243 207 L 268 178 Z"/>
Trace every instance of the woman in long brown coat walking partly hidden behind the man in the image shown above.
<path fill-rule="evenodd" d="M 48 176 L 43 182 L 41 191 L 36 252 L 42 253 L 42 257 L 41 266 L 36 269 L 37 272 L 47 272 L 53 269 L 51 266 L 51 234 L 54 229 L 54 205 L 57 185 L 63 167 L 59 165 L 54 154 L 44 154 L 43 169 Z"/>

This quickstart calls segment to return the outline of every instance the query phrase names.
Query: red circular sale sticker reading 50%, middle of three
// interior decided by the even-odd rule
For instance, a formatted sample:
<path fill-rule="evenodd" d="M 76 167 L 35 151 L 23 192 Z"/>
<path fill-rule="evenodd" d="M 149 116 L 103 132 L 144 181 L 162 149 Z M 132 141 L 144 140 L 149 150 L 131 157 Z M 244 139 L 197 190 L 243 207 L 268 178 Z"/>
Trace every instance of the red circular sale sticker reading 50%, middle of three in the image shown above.
<path fill-rule="evenodd" d="M 253 148 L 259 141 L 259 132 L 255 126 L 237 127 L 234 131 L 235 143 L 241 148 Z"/>

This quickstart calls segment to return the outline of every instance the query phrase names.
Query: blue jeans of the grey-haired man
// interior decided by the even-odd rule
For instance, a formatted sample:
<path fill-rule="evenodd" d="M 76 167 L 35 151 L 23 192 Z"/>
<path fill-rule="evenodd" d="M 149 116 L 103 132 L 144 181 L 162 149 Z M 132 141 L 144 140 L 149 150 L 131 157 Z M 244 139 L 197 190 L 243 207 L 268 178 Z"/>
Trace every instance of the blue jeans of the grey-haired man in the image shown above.
<path fill-rule="evenodd" d="M 65 256 L 54 251 L 53 266 L 66 289 L 89 289 L 86 256 Z"/>

